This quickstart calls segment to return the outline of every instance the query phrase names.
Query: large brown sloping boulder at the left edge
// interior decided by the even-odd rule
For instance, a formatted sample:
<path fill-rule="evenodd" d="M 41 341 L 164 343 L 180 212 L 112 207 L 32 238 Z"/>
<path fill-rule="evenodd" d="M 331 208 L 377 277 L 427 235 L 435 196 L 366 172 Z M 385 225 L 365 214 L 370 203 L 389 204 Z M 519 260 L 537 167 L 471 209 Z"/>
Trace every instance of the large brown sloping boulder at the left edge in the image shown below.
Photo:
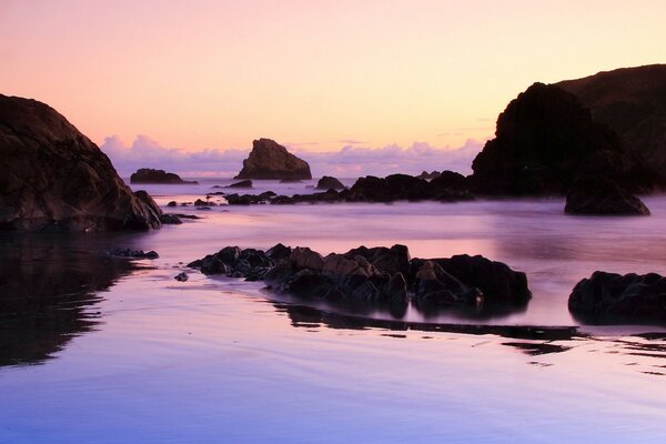
<path fill-rule="evenodd" d="M 159 228 L 159 214 L 64 117 L 0 94 L 0 229 L 107 231 Z M 157 206 L 157 205 L 154 205 Z M 159 208 L 158 208 L 159 210 Z"/>

